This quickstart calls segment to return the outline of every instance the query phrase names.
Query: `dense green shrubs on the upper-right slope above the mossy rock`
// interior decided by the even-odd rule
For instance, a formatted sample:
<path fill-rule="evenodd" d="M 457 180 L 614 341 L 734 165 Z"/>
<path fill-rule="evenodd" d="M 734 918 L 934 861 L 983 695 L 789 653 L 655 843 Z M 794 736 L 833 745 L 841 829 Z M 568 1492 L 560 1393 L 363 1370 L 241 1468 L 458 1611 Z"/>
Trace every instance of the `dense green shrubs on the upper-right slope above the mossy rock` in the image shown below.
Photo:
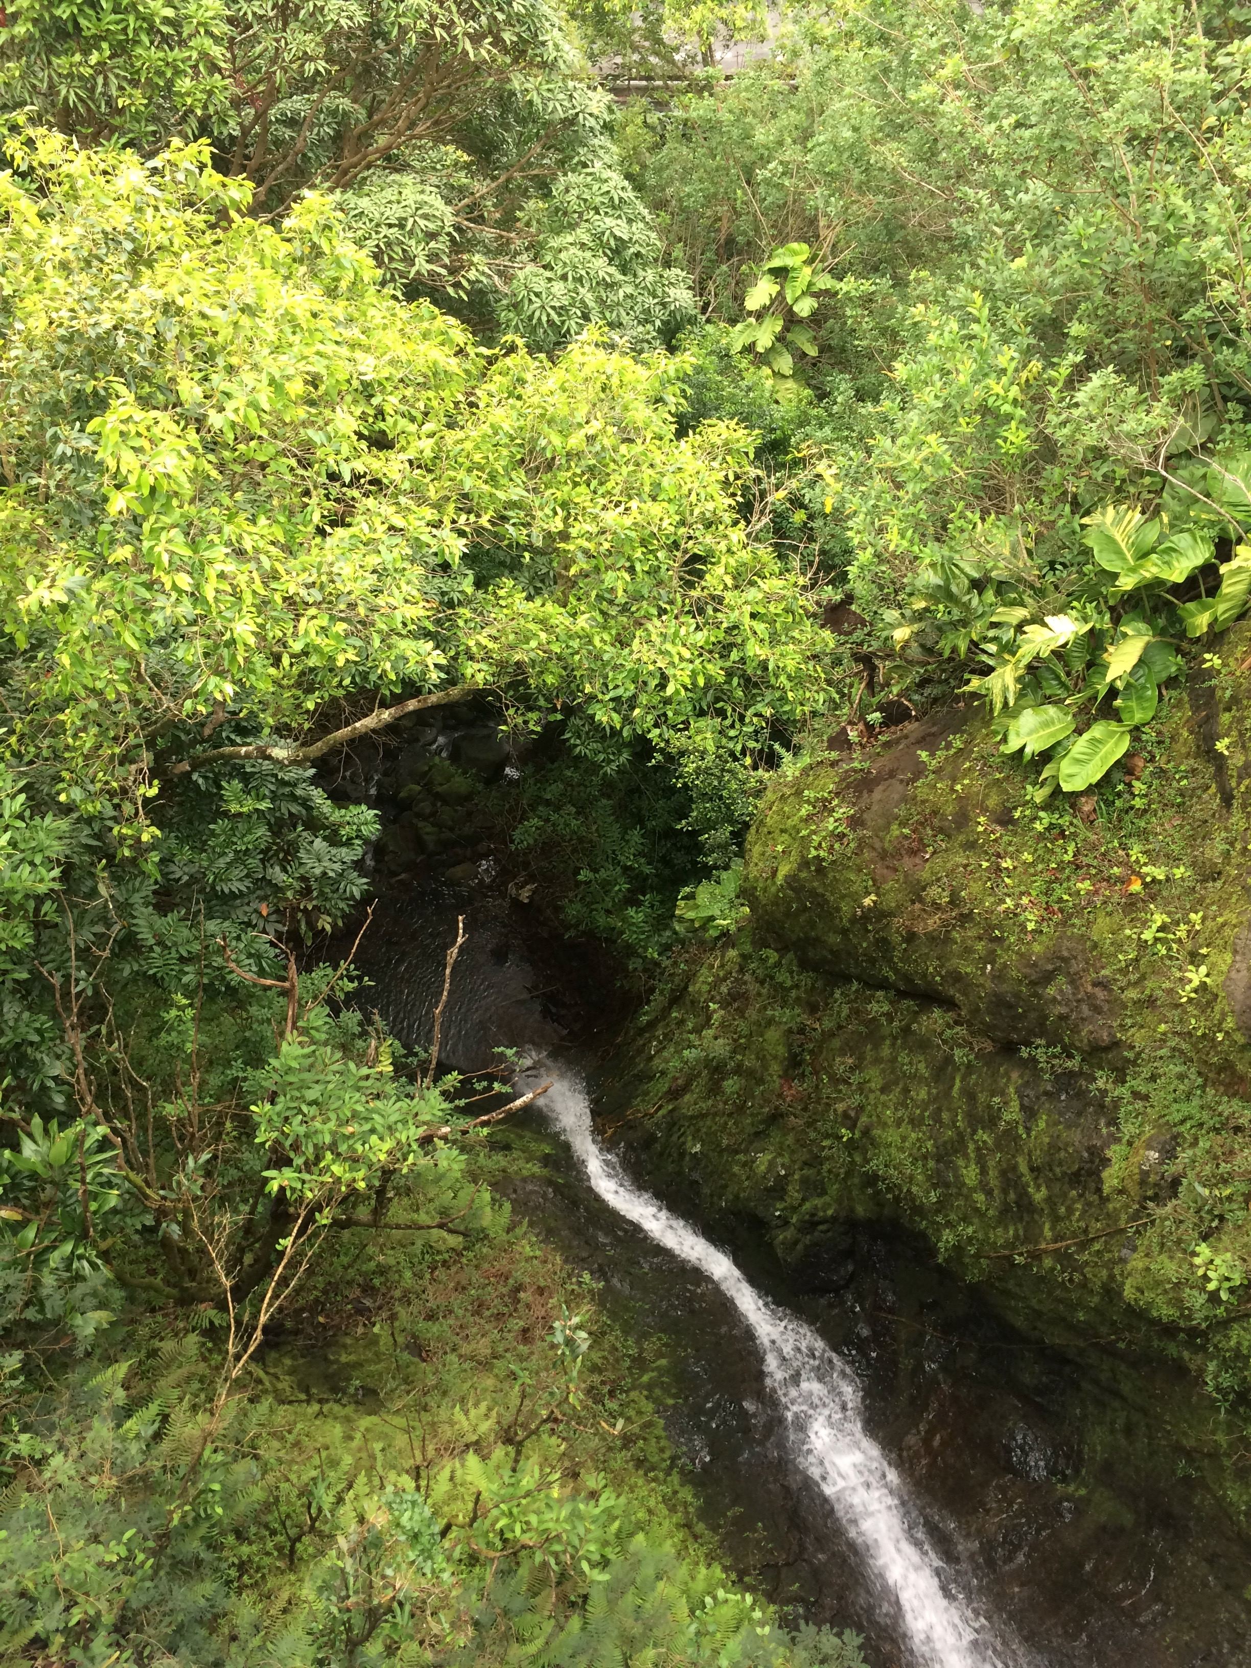
<path fill-rule="evenodd" d="M 1118 644 L 1241 612 L 1246 55 L 1224 7 L 871 0 L 627 123 L 706 307 L 814 395 L 787 490 L 861 615 L 864 711 L 951 694 L 977 646 L 996 712 L 1059 701 L 1051 742 L 1094 724 L 1111 752 L 1071 746 L 1108 764 L 1151 706 Z M 1099 529 L 1134 517 L 1166 554 L 1128 585 Z"/>

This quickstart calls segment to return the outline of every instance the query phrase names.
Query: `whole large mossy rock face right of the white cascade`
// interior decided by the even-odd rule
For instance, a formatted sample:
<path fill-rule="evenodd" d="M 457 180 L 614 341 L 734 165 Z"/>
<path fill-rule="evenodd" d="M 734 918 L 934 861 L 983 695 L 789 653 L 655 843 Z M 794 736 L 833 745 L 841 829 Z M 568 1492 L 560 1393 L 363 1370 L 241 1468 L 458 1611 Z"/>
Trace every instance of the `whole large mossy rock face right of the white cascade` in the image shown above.
<path fill-rule="evenodd" d="M 1168 1416 L 1239 1508 L 1211 1433 L 1251 1411 L 1249 642 L 1076 802 L 972 711 L 781 781 L 749 927 L 692 952 L 614 1114 L 812 1289 L 892 1223 L 1034 1336 L 1188 1368 L 1221 1406 Z"/>

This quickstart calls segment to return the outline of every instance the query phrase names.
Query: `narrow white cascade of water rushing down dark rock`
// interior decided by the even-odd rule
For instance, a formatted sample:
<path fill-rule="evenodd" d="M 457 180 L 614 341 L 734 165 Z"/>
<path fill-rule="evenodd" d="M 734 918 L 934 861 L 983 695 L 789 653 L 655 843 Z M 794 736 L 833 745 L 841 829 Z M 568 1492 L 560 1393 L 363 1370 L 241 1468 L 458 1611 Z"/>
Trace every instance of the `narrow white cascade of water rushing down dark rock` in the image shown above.
<path fill-rule="evenodd" d="M 786 1416 L 796 1460 L 859 1548 L 877 1596 L 892 1606 L 917 1668 L 1012 1668 L 1014 1651 L 952 1591 L 892 1465 L 864 1429 L 852 1371 L 811 1326 L 779 1309 L 681 1216 L 629 1181 L 595 1141 L 584 1086 L 560 1068 L 540 1106 L 569 1141 L 592 1189 L 651 1239 L 712 1279 L 751 1329 Z M 535 1081 L 539 1081 L 535 1078 Z"/>

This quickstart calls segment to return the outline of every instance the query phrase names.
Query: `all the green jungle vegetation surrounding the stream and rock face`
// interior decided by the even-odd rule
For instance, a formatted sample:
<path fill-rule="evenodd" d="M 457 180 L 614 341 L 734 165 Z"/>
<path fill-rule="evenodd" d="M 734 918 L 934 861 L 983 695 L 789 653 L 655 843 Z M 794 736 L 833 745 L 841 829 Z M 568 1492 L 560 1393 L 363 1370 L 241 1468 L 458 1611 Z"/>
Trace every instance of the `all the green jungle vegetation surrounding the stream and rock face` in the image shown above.
<path fill-rule="evenodd" d="M 5 8 L 0 1661 L 857 1660 L 352 1006 L 315 766 L 555 726 L 520 841 L 636 966 L 832 719 L 1098 782 L 1251 597 L 1249 22 Z M 292 1411 L 365 1289 L 379 1399 Z"/>

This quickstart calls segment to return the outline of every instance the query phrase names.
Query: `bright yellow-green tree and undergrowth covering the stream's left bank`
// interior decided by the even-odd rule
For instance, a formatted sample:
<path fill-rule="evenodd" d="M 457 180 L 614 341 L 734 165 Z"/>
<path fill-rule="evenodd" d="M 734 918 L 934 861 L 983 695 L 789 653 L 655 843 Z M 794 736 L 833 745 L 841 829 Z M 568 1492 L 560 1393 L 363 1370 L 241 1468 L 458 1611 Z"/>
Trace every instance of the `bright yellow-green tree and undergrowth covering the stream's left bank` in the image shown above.
<path fill-rule="evenodd" d="M 562 1433 L 589 1339 L 550 1289 L 520 1288 L 512 1354 L 495 1329 L 485 1401 L 400 1351 L 375 1394 L 407 1448 L 334 1418 L 284 1443 L 300 1398 L 264 1363 L 309 1293 L 354 1314 L 392 1236 L 400 1288 L 432 1251 L 472 1281 L 507 1231 L 457 1081 L 310 947 L 379 829 L 310 766 L 485 691 L 517 729 L 575 709 L 699 797 L 824 701 L 824 656 L 739 517 L 751 435 L 677 434 L 682 360 L 487 349 L 397 295 L 337 198 L 272 224 L 210 138 L 123 148 L 132 105 L 80 133 L 117 143 L 13 125 L 0 180 L 3 1650 L 357 1665 L 550 1636 L 579 1661 L 622 1633 L 854 1665 L 604 1481 L 641 1486 L 610 1401 L 610 1441 Z M 545 235 L 575 240 L 562 190 Z M 642 317 L 656 240 L 622 192 Z M 600 320 L 595 294 L 539 337 Z M 429 1475 L 414 1419 L 442 1431 Z"/>

